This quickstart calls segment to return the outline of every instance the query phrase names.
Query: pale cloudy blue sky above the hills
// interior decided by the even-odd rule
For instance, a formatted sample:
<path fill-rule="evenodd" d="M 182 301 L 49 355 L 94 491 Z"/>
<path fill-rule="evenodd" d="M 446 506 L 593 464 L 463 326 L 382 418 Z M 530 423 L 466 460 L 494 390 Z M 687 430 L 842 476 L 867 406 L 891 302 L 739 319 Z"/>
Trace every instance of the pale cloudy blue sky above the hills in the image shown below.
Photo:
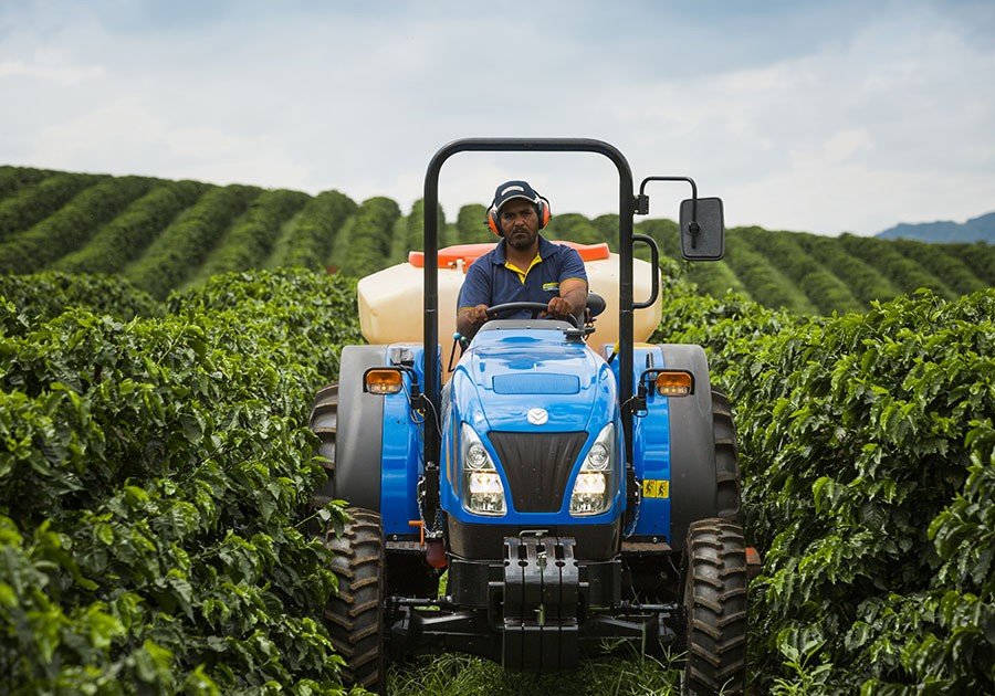
<path fill-rule="evenodd" d="M 995 0 L 0 0 L 0 164 L 407 213 L 440 147 L 499 136 L 606 140 L 727 226 L 963 222 L 995 210 Z M 507 179 L 618 210 L 597 155 L 464 152 L 444 214 Z"/>

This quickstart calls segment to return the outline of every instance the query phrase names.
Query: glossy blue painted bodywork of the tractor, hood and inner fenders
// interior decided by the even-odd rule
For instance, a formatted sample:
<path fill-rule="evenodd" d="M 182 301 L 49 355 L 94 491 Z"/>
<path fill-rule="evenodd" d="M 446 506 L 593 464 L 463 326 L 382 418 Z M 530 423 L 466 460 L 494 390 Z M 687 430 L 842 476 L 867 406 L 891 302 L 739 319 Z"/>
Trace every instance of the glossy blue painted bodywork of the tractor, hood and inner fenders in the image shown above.
<path fill-rule="evenodd" d="M 587 344 L 569 341 L 558 328 L 509 328 L 482 330 L 460 359 L 442 397 L 441 503 L 442 508 L 463 523 L 502 525 L 600 525 L 615 520 L 624 512 L 625 445 L 617 396 L 618 365 L 598 356 Z M 386 356 L 399 349 L 413 356 L 413 371 L 423 383 L 420 345 L 392 345 Z M 610 348 L 609 348 L 610 350 Z M 607 351 L 606 351 L 607 355 Z M 441 361 L 440 361 L 441 362 Z M 385 361 L 385 365 L 387 362 Z M 410 362 L 409 362 L 410 365 Z M 647 367 L 666 367 L 656 346 L 635 349 L 637 380 Z M 422 473 L 423 422 L 411 410 L 411 376 L 405 376 L 405 390 L 384 397 L 384 442 L 381 462 L 381 519 L 389 536 L 412 537 L 418 530 L 409 525 L 420 519 L 417 483 Z M 542 425 L 528 422 L 530 409 L 548 414 Z M 511 486 L 500 457 L 488 439 L 490 431 L 501 432 L 586 432 L 587 439 L 574 462 L 563 503 L 554 513 L 522 513 L 507 497 L 507 513 L 482 516 L 462 505 L 462 462 L 460 429 L 468 423 L 496 463 L 505 492 Z M 569 514 L 569 492 L 580 465 L 601 429 L 615 424 L 615 476 L 612 504 L 608 512 L 588 517 Z M 635 527 L 628 535 L 670 537 L 670 414 L 669 399 L 647 394 L 647 410 L 633 419 L 633 465 L 643 489 Z M 374 465 L 374 463 L 370 463 Z M 649 482 L 647 487 L 646 482 Z M 666 483 L 663 483 L 666 482 Z M 649 494 L 649 495 L 647 495 Z"/>

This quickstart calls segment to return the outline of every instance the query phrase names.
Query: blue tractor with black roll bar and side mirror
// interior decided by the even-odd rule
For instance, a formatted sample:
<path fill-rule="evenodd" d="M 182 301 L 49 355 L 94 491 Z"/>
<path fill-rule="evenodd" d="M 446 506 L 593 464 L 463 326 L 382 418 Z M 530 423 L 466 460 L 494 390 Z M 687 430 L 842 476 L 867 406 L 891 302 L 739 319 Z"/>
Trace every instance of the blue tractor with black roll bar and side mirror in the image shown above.
<path fill-rule="evenodd" d="M 442 388 L 438 340 L 438 181 L 463 151 L 595 152 L 619 175 L 619 340 L 586 323 L 495 306 Z M 633 217 L 650 181 L 683 181 L 682 253 L 722 256 L 719 199 L 683 177 L 633 192 L 625 157 L 599 140 L 464 139 L 425 182 L 423 342 L 348 346 L 312 428 L 352 521 L 326 535 L 339 592 L 325 608 L 347 683 L 383 687 L 390 660 L 482 655 L 514 671 L 559 671 L 606 640 L 685 656 L 687 693 L 741 693 L 747 548 L 730 404 L 700 346 L 633 345 Z M 658 284 L 652 294 L 658 293 Z M 502 319 L 534 309 L 533 319 Z M 434 349 L 426 350 L 426 346 Z M 444 590 L 439 591 L 446 572 Z"/>

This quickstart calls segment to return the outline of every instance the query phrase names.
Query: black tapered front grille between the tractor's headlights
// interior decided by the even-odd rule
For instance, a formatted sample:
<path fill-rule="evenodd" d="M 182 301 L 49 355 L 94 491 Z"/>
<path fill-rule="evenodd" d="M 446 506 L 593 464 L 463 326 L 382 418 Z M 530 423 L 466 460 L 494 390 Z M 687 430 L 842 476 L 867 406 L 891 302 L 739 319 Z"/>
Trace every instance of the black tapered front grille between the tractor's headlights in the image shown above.
<path fill-rule="evenodd" d="M 555 513 L 587 433 L 488 433 L 520 513 Z"/>

